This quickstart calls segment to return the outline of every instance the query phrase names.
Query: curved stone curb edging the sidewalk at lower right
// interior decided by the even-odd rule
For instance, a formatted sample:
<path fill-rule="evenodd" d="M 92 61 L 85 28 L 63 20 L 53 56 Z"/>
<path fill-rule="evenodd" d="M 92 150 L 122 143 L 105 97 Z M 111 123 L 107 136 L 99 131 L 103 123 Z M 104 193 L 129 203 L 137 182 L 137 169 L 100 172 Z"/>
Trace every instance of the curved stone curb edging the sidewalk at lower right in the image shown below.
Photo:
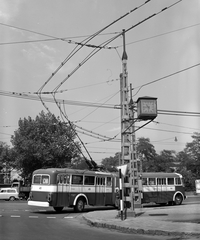
<path fill-rule="evenodd" d="M 134 229 L 130 227 L 120 227 L 114 224 L 109 224 L 105 222 L 91 220 L 83 215 L 83 219 L 87 222 L 88 225 L 99 227 L 99 228 L 108 228 L 112 230 L 117 230 L 120 232 L 130 233 L 130 234 L 145 234 L 145 235 L 163 235 L 163 236 L 178 236 L 178 237 L 197 237 L 200 238 L 199 233 L 185 233 L 185 232 L 171 232 L 163 230 L 144 230 L 144 229 Z"/>

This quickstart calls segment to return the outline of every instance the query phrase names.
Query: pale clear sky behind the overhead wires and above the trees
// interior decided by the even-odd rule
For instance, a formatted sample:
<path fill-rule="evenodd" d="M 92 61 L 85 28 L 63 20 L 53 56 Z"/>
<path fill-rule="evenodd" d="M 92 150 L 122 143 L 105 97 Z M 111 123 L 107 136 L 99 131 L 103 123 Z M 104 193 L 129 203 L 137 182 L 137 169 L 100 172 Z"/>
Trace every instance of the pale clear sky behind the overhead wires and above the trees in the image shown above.
<path fill-rule="evenodd" d="M 157 118 L 136 131 L 136 139 L 149 138 L 157 153 L 182 151 L 200 132 L 200 1 L 144 3 L 0 0 L 0 141 L 12 146 L 19 119 L 35 119 L 43 110 L 74 123 L 97 163 L 120 152 L 120 33 L 130 29 L 125 43 L 133 101 L 151 96 L 158 105 Z M 94 47 L 101 44 L 105 48 Z M 46 92 L 42 101 L 39 90 Z"/>

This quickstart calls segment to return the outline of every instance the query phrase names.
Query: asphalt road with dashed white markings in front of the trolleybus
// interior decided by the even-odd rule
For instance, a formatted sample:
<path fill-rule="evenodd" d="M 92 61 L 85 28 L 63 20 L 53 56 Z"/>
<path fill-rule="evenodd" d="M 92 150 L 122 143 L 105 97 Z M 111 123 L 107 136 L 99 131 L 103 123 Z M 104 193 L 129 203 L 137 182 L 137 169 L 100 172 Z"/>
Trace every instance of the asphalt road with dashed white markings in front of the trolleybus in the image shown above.
<path fill-rule="evenodd" d="M 200 198 L 188 198 L 184 204 L 200 203 Z M 103 211 L 105 208 L 89 208 L 87 211 Z M 106 208 L 108 210 L 108 208 Z M 65 209 L 56 213 L 51 208 L 30 207 L 25 201 L 0 201 L 0 239 L 1 240 L 129 240 L 132 234 L 88 226 L 82 213 Z M 175 239 L 166 236 L 134 235 L 137 240 Z M 179 238 L 180 239 L 180 238 Z"/>

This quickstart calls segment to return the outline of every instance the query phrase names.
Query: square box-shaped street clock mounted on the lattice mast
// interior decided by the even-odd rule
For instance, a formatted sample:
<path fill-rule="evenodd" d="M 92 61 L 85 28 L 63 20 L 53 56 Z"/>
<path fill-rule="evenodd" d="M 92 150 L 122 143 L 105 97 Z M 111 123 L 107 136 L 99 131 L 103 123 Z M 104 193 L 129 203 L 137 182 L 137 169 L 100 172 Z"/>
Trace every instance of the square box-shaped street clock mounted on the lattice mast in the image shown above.
<path fill-rule="evenodd" d="M 153 120 L 157 117 L 157 98 L 140 97 L 137 100 L 137 115 L 141 120 Z"/>

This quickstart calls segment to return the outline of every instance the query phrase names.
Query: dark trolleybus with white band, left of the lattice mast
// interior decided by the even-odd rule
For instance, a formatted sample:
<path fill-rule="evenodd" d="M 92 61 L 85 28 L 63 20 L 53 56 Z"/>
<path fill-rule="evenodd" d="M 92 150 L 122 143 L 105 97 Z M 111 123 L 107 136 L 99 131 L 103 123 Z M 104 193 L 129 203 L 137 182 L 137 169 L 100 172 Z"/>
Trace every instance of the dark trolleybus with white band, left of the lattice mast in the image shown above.
<path fill-rule="evenodd" d="M 33 172 L 28 205 L 50 207 L 57 212 L 73 207 L 76 212 L 85 205 L 116 204 L 116 175 L 108 172 L 68 168 L 38 169 Z"/>

